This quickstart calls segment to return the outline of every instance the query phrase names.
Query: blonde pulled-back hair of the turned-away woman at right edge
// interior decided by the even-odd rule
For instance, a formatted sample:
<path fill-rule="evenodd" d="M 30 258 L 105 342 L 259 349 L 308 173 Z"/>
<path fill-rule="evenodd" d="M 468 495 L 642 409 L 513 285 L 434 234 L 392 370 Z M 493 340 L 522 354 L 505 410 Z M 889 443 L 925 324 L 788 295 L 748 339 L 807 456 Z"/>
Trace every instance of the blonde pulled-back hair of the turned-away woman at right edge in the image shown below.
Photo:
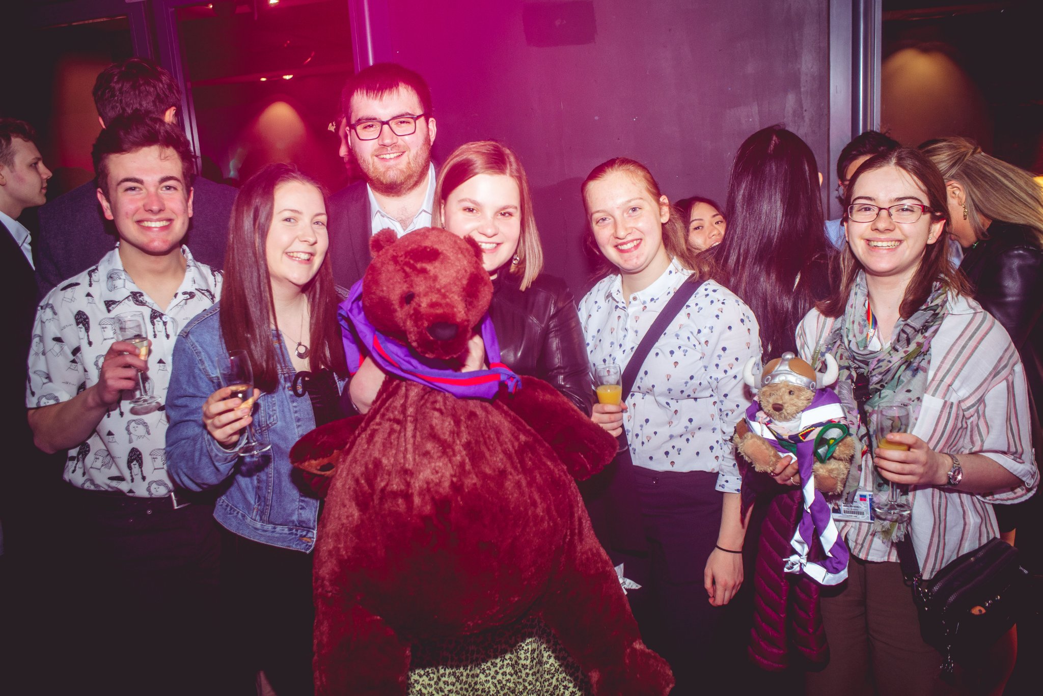
<path fill-rule="evenodd" d="M 923 148 L 946 182 L 963 187 L 967 218 L 976 239 L 986 237 L 981 216 L 1032 227 L 1043 247 L 1043 189 L 1024 169 L 986 154 L 969 138 L 942 138 Z"/>

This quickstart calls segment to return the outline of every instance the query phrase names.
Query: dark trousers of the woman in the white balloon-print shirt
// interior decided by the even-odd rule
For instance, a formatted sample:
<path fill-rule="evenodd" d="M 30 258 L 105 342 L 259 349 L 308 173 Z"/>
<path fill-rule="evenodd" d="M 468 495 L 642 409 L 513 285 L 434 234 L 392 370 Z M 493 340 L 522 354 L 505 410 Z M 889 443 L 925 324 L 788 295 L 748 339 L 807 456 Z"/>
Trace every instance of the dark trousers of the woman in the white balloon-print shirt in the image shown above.
<path fill-rule="evenodd" d="M 703 580 L 721 527 L 717 474 L 635 470 L 650 579 L 632 602 L 634 617 L 646 644 L 670 663 L 674 696 L 710 693 L 729 676 L 719 640 L 724 607 L 709 603 Z"/>

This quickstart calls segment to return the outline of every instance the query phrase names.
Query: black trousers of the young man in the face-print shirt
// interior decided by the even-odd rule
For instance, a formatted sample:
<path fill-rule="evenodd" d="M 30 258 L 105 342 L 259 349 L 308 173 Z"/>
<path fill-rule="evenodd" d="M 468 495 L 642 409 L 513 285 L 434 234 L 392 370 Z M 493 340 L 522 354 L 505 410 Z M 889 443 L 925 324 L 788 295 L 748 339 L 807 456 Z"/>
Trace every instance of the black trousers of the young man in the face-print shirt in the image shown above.
<path fill-rule="evenodd" d="M 57 649 L 32 693 L 226 693 L 213 504 L 68 485 L 53 502 Z"/>

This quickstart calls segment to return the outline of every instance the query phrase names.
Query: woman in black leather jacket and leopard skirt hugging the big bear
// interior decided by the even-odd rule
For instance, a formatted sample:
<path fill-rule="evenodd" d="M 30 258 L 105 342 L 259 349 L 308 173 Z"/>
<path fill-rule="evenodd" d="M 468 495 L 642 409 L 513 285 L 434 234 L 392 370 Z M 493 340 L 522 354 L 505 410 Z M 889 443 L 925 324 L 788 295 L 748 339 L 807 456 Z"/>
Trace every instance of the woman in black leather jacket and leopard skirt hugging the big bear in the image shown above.
<path fill-rule="evenodd" d="M 539 233 L 517 155 L 492 141 L 454 150 L 435 185 L 432 225 L 481 246 L 492 279 L 489 316 L 501 360 L 519 375 L 551 383 L 589 415 L 593 384 L 576 304 L 564 281 L 540 273 Z M 481 339 L 472 338 L 464 369 L 483 360 Z M 351 398 L 364 410 L 375 389 L 357 386 L 361 373 L 353 380 Z M 427 694 L 485 693 L 492 683 L 525 683 L 527 694 L 579 696 L 586 687 L 557 638 L 532 618 L 460 641 L 414 645 L 412 664 L 411 690 Z"/>

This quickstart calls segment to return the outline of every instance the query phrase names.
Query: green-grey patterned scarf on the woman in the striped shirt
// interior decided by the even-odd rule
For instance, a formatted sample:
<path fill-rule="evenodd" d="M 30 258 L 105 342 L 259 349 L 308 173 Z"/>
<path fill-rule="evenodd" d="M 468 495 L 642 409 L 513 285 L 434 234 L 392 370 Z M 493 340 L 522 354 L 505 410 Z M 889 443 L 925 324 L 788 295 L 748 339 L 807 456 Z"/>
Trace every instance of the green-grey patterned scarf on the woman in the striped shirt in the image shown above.
<path fill-rule="evenodd" d="M 867 308 L 869 292 L 865 272 L 859 272 L 848 296 L 844 316 L 836 320 L 820 346 L 820 353 L 831 353 L 840 366 L 836 395 L 849 416 L 859 414 L 854 434 L 864 447 L 872 447 L 874 432 L 872 412 L 892 401 L 903 401 L 912 407 L 912 423 L 920 413 L 920 403 L 927 387 L 930 365 L 930 341 L 945 318 L 946 290 L 935 283 L 927 301 L 907 319 L 899 317 L 891 335 L 891 343 L 879 350 L 869 347 Z M 858 408 L 858 401 L 864 409 Z M 870 414 L 867 418 L 864 414 Z M 863 458 L 851 462 L 844 485 L 844 495 L 858 488 L 863 474 Z M 888 489 L 888 481 L 878 472 L 873 476 L 874 496 Z M 902 496 L 908 502 L 908 491 Z M 875 528 L 884 538 L 900 539 L 904 529 L 893 523 L 878 523 Z"/>

